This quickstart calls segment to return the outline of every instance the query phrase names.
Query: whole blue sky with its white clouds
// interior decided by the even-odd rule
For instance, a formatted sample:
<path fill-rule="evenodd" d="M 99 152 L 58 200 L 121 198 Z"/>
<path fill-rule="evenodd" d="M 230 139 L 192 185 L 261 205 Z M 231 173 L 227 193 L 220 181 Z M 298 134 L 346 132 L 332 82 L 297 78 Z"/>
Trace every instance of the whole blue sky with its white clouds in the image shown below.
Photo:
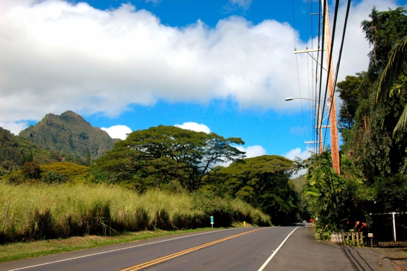
<path fill-rule="evenodd" d="M 335 65 L 345 2 L 339 2 Z M 352 1 L 339 80 L 367 68 L 370 48 L 360 23 L 372 7 L 405 2 Z M 315 62 L 294 48 L 315 48 L 318 16 L 310 14 L 318 5 L 3 0 L 0 126 L 18 134 L 48 113 L 72 110 L 113 138 L 176 125 L 240 137 L 248 157 L 305 158 L 312 150 L 304 143 L 313 137 L 312 102 L 284 99 L 314 98 Z"/>

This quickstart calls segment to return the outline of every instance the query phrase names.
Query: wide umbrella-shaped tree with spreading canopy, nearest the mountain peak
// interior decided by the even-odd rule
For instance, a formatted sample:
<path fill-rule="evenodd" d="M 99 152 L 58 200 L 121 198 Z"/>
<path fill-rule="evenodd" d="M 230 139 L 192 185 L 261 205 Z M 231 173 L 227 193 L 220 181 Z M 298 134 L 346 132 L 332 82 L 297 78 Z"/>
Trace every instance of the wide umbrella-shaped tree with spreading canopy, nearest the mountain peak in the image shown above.
<path fill-rule="evenodd" d="M 159 125 L 130 133 L 95 160 L 94 167 L 112 182 L 127 181 L 142 189 L 177 180 L 192 192 L 215 164 L 244 157 L 245 153 L 231 144 L 244 142 L 216 133 Z"/>

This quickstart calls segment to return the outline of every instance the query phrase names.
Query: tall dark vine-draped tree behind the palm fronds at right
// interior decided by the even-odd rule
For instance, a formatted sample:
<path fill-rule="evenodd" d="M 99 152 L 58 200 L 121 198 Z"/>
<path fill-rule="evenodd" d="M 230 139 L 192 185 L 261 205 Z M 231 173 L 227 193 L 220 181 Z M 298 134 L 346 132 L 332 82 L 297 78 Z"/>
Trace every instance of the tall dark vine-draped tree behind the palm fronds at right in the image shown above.
<path fill-rule="evenodd" d="M 391 56 L 391 48 L 407 31 L 403 8 L 379 12 L 372 9 L 370 20 L 362 22 L 366 39 L 372 45 L 367 72 L 346 76 L 337 84 L 342 97 L 342 151 L 361 166 L 368 182 L 378 175 L 388 176 L 406 169 L 407 141 L 393 129 L 401 115 L 407 93 L 394 91 L 392 99 L 376 103 L 377 86 Z M 351 124 L 351 125 L 346 125 Z"/>

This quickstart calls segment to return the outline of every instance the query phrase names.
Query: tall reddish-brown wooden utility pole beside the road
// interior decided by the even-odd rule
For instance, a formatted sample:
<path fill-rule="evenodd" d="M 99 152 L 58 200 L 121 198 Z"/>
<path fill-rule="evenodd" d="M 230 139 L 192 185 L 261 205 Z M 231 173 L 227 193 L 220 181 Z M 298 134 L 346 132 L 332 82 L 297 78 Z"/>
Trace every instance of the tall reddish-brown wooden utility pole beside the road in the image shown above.
<path fill-rule="evenodd" d="M 325 9 L 324 21 L 325 21 L 325 50 L 327 55 L 327 68 L 328 70 L 328 92 L 329 101 L 331 107 L 331 114 L 329 115 L 330 128 L 331 128 L 331 153 L 332 153 L 332 167 L 340 174 L 340 164 L 339 164 L 339 146 L 338 146 L 338 125 L 336 122 L 336 103 L 335 103 L 335 93 L 334 93 L 334 68 L 331 55 L 331 30 L 329 27 L 329 13 L 328 13 L 328 3 L 327 0 L 321 0 L 323 2 L 323 10 Z M 331 62 L 331 63 L 330 63 Z"/>

